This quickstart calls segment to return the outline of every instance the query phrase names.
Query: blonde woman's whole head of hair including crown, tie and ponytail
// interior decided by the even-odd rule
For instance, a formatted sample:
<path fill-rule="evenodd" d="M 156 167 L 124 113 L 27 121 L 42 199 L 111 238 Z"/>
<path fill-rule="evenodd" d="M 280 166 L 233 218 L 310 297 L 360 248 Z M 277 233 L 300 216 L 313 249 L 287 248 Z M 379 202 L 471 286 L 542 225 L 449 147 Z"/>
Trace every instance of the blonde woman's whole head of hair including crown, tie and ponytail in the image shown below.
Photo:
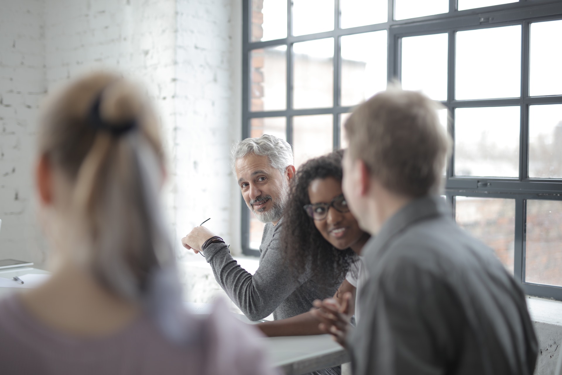
<path fill-rule="evenodd" d="M 183 340 L 175 254 L 158 200 L 164 157 L 148 102 L 124 79 L 90 75 L 53 102 L 40 148 L 74 183 L 71 202 L 84 219 L 94 277 Z"/>

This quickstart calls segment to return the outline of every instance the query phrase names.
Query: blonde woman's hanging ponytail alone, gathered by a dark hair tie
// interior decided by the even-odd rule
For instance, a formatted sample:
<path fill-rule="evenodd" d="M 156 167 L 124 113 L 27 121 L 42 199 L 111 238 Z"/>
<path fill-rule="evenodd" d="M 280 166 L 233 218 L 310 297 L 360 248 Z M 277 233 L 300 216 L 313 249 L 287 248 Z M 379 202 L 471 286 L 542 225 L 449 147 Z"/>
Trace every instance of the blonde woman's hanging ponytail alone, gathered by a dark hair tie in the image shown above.
<path fill-rule="evenodd" d="M 111 291 L 139 300 L 151 272 L 159 266 L 156 251 L 162 250 L 155 243 L 155 237 L 162 236 L 151 216 L 156 213 L 149 207 L 158 196 L 161 160 L 145 144 L 142 125 L 136 121 L 142 117 L 142 105 L 132 88 L 123 81 L 113 82 L 98 93 L 96 101 L 99 107 L 94 111 L 99 113 L 94 115 L 107 128 L 97 126 L 92 148 L 78 171 L 74 204 L 83 210 L 91 230 L 94 275 Z M 87 121 L 93 122 L 91 117 Z M 112 132 L 132 121 L 136 127 L 128 132 Z"/>

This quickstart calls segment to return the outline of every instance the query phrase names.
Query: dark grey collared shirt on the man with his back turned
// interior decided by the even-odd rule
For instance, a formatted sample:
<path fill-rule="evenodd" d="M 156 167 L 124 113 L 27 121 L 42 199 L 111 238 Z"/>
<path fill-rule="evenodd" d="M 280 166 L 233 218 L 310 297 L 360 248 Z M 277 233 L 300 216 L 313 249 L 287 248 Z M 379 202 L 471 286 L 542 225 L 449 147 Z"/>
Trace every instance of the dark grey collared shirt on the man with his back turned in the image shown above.
<path fill-rule="evenodd" d="M 531 375 L 537 339 L 521 288 L 493 251 L 424 197 L 364 248 L 354 373 Z"/>

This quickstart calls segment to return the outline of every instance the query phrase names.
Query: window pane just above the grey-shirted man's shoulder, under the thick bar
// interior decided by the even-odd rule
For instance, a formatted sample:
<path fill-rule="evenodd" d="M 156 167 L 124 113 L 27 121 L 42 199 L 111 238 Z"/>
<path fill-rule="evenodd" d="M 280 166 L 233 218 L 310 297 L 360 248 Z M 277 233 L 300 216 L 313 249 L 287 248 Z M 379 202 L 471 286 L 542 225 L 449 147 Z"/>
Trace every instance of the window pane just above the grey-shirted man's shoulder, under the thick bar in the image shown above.
<path fill-rule="evenodd" d="M 455 197 L 455 219 L 461 228 L 490 246 L 513 275 L 515 200 Z"/>

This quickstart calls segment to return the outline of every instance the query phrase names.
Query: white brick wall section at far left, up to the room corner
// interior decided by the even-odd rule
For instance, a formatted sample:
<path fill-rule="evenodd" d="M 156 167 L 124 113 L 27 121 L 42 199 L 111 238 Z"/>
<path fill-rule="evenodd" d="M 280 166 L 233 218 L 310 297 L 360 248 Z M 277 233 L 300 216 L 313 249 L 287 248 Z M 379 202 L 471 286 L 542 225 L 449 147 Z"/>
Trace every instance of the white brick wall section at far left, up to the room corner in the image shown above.
<path fill-rule="evenodd" d="M 42 264 L 32 166 L 36 115 L 44 96 L 41 0 L 2 1 L 0 11 L 0 259 Z"/>

